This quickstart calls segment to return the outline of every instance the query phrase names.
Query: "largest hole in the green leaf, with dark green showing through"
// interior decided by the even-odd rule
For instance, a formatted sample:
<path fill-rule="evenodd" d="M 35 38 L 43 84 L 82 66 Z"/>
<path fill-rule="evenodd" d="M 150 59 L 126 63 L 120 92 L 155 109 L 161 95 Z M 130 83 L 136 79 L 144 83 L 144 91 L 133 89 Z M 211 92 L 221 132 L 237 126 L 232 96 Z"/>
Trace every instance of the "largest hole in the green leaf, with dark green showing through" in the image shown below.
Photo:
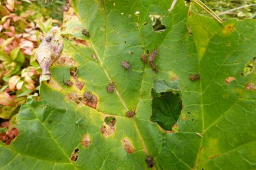
<path fill-rule="evenodd" d="M 181 115 L 182 101 L 179 93 L 179 83 L 174 81 L 156 80 L 152 89 L 152 116 L 164 130 L 172 130 Z"/>

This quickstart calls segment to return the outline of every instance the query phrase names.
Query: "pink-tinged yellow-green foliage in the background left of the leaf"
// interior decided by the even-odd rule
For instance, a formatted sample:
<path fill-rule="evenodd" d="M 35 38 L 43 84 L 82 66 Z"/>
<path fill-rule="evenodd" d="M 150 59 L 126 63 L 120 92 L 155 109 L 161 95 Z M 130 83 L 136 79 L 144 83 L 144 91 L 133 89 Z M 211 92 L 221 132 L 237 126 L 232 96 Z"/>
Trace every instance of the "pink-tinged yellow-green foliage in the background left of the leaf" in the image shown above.
<path fill-rule="evenodd" d="M 52 13 L 40 1 L 1 1 L 0 5 L 0 118 L 11 119 L 27 97 L 38 98 L 38 77 L 41 70 L 36 62 L 36 47 L 53 26 L 61 22 L 50 14 L 62 15 L 61 1 Z M 58 18 L 57 19 L 61 19 Z M 2 120 L 0 121 L 2 122 Z"/>

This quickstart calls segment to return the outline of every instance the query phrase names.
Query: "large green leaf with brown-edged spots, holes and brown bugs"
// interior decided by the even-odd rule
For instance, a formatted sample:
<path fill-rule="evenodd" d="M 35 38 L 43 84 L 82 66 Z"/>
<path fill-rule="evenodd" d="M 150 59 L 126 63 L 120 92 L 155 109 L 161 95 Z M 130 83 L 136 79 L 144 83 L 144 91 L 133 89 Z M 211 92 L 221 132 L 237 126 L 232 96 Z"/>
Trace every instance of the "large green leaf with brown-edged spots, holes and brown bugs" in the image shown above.
<path fill-rule="evenodd" d="M 256 169 L 255 20 L 219 24 L 181 0 L 169 13 L 171 3 L 74 0 L 77 17 L 69 13 L 61 32 L 63 62 L 41 84 L 43 101 L 22 105 L 18 138 L 0 144 L 0 169 L 147 169 L 150 157 L 154 169 Z M 163 32 L 152 28 L 156 15 Z M 157 74 L 140 58 L 154 48 Z M 82 90 L 63 83 L 69 79 Z M 150 121 L 156 79 L 179 82 L 178 132 Z M 114 93 L 106 91 L 110 82 Z M 72 101 L 85 91 L 98 97 L 96 109 Z"/>

